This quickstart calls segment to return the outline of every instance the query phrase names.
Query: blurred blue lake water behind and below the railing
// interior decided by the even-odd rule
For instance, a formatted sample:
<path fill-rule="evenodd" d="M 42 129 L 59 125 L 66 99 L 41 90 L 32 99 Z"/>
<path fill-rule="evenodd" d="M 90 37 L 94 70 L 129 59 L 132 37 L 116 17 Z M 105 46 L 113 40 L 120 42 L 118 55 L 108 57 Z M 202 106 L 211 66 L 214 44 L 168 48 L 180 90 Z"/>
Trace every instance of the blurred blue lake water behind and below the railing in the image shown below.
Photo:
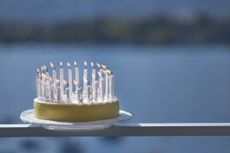
<path fill-rule="evenodd" d="M 0 44 L 0 123 L 32 108 L 35 70 L 92 60 L 115 74 L 130 122 L 230 122 L 230 47 Z M 1 138 L 0 152 L 230 152 L 229 137 Z M 7 143 L 6 143 L 7 142 Z"/>

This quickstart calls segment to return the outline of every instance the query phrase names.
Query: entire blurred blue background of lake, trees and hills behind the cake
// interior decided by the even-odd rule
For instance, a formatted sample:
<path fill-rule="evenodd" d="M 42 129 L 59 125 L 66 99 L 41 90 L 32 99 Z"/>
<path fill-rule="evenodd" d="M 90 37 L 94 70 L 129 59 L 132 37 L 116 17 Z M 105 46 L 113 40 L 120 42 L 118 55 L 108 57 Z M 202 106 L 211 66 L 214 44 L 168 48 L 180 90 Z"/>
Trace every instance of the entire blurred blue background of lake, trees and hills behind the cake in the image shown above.
<path fill-rule="evenodd" d="M 36 68 L 107 64 L 130 122 L 230 122 L 229 0 L 0 0 L 0 123 L 33 107 Z M 0 152 L 229 153 L 230 137 L 0 138 Z"/>

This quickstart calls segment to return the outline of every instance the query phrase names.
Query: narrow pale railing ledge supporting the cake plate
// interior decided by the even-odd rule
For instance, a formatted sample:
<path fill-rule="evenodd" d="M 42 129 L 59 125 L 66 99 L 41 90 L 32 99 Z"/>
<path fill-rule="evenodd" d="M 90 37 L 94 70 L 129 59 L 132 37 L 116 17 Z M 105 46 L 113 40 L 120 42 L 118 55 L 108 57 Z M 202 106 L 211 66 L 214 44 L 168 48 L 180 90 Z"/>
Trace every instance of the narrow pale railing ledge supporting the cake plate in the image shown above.
<path fill-rule="evenodd" d="M 119 123 L 95 131 L 52 131 L 31 124 L 0 124 L 0 137 L 230 136 L 230 123 Z"/>

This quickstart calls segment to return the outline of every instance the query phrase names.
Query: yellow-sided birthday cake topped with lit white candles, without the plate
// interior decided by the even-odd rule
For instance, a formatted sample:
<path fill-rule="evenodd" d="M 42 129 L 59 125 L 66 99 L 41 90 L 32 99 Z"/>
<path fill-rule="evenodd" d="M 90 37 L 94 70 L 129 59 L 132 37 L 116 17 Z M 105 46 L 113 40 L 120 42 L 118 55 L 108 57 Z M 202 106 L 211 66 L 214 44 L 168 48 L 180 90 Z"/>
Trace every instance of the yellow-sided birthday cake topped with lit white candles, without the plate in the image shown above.
<path fill-rule="evenodd" d="M 51 72 L 47 66 L 37 69 L 37 97 L 34 99 L 36 118 L 90 122 L 119 116 L 119 101 L 114 96 L 114 74 L 106 65 L 97 63 L 95 67 L 91 62 L 88 67 L 85 61 L 83 79 L 79 79 L 77 62 L 74 62 L 73 68 L 67 63 L 66 74 L 62 62 L 59 71 L 53 63 L 50 63 L 50 67 Z M 88 76 L 90 70 L 91 75 Z"/>

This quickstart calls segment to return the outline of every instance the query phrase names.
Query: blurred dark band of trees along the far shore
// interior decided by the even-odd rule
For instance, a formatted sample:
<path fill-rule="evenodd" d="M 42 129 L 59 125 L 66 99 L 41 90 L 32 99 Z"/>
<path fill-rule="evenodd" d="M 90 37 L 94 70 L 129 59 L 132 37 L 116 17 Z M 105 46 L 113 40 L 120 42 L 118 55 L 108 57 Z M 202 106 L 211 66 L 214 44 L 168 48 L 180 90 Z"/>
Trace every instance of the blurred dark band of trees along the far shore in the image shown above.
<path fill-rule="evenodd" d="M 63 23 L 0 20 L 0 42 L 224 43 L 230 44 L 230 18 L 199 15 L 184 21 L 167 16 L 138 20 L 96 18 Z"/>

